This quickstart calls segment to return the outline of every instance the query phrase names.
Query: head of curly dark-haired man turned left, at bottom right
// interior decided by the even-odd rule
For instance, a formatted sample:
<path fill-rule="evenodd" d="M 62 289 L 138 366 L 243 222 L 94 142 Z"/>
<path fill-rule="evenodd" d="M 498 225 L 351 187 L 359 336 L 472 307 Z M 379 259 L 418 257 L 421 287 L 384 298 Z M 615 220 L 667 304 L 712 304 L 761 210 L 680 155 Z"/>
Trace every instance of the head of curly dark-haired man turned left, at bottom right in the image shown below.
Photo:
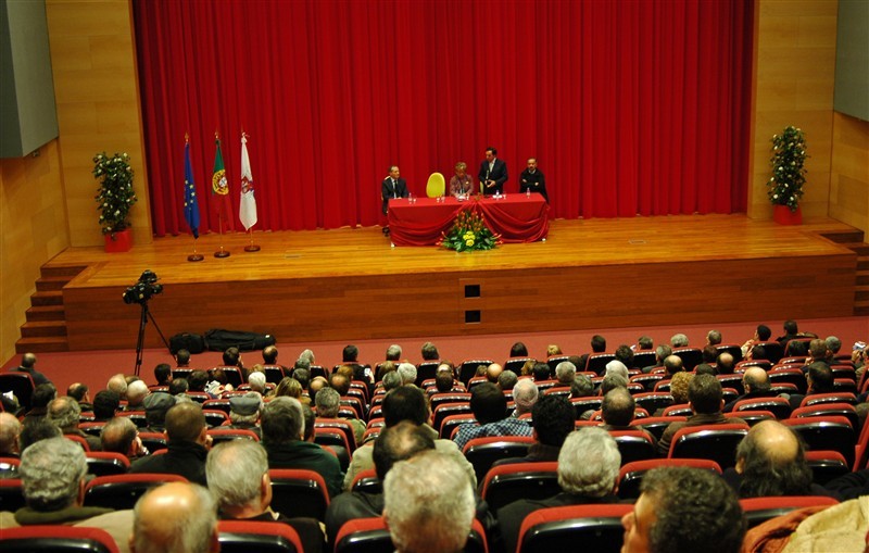
<path fill-rule="evenodd" d="M 622 553 L 738 553 L 745 517 L 717 475 L 690 467 L 650 470 L 633 512 L 621 518 Z"/>

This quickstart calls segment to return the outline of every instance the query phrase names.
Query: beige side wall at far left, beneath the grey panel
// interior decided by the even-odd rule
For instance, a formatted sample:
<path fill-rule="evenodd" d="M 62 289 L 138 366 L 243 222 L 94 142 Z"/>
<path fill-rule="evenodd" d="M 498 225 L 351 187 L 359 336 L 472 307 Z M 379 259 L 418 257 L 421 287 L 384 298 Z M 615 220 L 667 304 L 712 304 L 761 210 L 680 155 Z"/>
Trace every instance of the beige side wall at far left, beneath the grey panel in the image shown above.
<path fill-rule="evenodd" d="M 70 246 L 58 140 L 39 156 L 0 160 L 0 360 L 15 341 L 39 267 Z"/>

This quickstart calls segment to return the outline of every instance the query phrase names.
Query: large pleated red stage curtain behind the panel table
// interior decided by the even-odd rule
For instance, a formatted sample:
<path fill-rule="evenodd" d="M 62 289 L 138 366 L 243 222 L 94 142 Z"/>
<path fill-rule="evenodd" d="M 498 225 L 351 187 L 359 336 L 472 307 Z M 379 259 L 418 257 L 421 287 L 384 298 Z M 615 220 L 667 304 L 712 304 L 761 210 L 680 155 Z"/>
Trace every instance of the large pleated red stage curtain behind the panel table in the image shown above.
<path fill-rule="evenodd" d="M 556 217 L 744 211 L 753 2 L 134 1 L 154 231 L 187 231 L 184 136 L 202 209 L 219 131 L 235 216 L 240 134 L 256 229 L 374 225 L 492 144 Z M 476 178 L 475 178 L 476 180 Z"/>

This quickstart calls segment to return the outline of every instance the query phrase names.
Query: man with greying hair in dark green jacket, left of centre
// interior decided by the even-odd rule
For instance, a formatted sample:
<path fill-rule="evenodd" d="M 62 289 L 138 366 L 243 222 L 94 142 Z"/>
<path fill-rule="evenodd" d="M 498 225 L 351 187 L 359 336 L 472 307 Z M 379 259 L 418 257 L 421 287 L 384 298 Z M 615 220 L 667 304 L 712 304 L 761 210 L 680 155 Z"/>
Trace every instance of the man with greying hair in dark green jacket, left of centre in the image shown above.
<path fill-rule="evenodd" d="M 304 413 L 299 400 L 281 395 L 266 403 L 261 428 L 269 468 L 314 470 L 326 480 L 329 497 L 341 493 L 343 475 L 338 458 L 318 444 L 304 441 Z"/>

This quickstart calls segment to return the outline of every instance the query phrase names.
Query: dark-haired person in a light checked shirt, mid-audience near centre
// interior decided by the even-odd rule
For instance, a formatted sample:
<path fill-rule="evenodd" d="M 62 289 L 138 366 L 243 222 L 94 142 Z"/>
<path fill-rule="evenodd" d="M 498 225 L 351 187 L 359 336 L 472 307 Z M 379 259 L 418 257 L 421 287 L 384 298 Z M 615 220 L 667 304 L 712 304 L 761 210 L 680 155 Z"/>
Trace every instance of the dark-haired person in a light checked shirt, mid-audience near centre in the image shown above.
<path fill-rule="evenodd" d="M 527 422 L 507 417 L 507 400 L 498 386 L 491 382 L 477 385 L 470 392 L 470 411 L 477 424 L 465 424 L 458 427 L 455 436 L 456 445 L 462 450 L 467 442 L 484 436 L 531 436 L 532 430 Z"/>

